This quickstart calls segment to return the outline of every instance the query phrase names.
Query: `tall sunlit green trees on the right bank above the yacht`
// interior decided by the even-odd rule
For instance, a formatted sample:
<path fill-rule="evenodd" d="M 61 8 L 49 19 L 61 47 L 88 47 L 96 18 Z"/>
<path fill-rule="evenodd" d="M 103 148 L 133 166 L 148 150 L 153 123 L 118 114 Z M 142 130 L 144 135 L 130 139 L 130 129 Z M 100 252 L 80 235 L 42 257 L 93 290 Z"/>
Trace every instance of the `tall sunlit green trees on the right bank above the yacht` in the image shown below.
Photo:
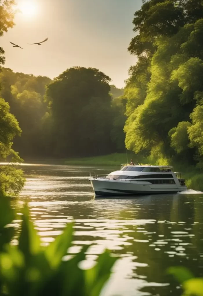
<path fill-rule="evenodd" d="M 126 146 L 202 167 L 203 1 L 143 1 L 133 24 Z"/>

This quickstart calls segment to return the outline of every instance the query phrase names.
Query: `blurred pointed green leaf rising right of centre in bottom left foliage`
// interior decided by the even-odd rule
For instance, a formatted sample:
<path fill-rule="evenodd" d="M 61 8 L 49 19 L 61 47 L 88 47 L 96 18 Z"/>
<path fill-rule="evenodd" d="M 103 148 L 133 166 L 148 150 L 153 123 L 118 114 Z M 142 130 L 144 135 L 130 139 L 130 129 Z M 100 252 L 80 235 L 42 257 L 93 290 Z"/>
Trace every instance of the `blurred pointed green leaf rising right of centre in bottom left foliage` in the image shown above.
<path fill-rule="evenodd" d="M 68 248 L 71 246 L 73 234 L 73 223 L 70 223 L 65 228 L 63 234 L 56 237 L 46 249 L 47 259 L 53 268 L 56 268 L 63 256 L 67 254 Z"/>

